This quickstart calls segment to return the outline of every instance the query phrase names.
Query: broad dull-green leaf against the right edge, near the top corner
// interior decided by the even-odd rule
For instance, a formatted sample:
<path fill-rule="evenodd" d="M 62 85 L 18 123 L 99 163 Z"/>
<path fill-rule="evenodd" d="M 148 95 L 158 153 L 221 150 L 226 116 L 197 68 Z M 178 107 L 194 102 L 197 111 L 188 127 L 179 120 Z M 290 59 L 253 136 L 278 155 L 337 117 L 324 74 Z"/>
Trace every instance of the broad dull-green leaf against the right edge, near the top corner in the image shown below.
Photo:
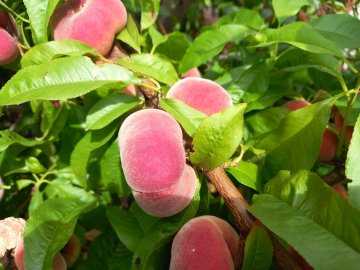
<path fill-rule="evenodd" d="M 360 20 L 348 14 L 329 14 L 311 22 L 328 40 L 339 48 L 356 49 L 360 47 Z"/>

